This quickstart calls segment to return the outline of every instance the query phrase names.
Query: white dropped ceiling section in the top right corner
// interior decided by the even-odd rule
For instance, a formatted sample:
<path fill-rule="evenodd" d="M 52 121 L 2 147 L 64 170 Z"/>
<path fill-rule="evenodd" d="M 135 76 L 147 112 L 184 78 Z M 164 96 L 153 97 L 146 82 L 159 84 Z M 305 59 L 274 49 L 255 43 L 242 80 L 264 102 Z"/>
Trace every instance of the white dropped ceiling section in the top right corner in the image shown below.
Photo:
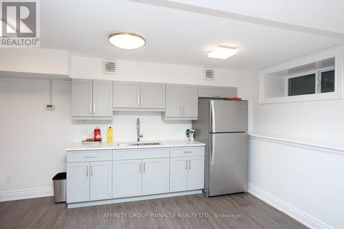
<path fill-rule="evenodd" d="M 133 0 L 135 1 L 135 0 Z M 140 1 L 140 0 L 138 0 Z M 145 1 L 145 0 L 142 0 Z M 147 0 L 148 1 L 148 0 Z M 164 2 L 159 0 L 160 3 Z M 343 0 L 170 0 L 344 35 Z M 151 1 L 152 2 L 152 1 Z"/>

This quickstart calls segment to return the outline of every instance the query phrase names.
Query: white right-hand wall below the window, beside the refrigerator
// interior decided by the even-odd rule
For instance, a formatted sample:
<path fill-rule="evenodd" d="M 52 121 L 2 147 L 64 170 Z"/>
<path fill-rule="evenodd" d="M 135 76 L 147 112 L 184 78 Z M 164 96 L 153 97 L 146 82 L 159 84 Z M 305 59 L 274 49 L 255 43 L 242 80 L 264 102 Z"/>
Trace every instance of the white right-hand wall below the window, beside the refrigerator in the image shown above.
<path fill-rule="evenodd" d="M 344 100 L 259 105 L 254 75 L 252 135 L 344 149 Z M 343 164 L 343 150 L 252 138 L 250 191 L 310 227 L 344 228 Z"/>

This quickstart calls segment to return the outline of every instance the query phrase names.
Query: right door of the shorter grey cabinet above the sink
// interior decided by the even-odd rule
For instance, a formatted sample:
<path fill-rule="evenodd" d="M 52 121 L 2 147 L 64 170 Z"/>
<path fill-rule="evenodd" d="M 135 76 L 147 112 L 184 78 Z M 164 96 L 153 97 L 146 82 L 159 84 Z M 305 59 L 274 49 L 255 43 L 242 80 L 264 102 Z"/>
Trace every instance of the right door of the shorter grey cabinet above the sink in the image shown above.
<path fill-rule="evenodd" d="M 165 108 L 165 84 L 141 83 L 141 108 Z"/>

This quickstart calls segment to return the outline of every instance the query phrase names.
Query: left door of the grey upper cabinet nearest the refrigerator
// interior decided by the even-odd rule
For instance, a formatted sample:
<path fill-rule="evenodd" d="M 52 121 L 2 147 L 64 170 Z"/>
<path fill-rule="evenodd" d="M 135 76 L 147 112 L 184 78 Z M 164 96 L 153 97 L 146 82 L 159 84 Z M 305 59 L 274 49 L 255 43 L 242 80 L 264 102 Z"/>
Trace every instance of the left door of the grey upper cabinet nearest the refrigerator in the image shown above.
<path fill-rule="evenodd" d="M 165 117 L 182 117 L 183 86 L 166 85 L 166 111 Z"/>

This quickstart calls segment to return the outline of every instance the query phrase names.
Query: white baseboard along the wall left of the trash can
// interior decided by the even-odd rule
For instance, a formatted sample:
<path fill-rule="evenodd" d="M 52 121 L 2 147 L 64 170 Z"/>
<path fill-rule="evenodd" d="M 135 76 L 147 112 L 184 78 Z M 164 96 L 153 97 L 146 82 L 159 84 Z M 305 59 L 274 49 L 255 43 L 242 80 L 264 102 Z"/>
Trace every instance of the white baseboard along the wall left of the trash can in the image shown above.
<path fill-rule="evenodd" d="M 54 195 L 54 188 L 18 190 L 18 191 L 0 193 L 0 202 L 17 200 L 17 199 L 51 197 L 53 195 Z"/>

